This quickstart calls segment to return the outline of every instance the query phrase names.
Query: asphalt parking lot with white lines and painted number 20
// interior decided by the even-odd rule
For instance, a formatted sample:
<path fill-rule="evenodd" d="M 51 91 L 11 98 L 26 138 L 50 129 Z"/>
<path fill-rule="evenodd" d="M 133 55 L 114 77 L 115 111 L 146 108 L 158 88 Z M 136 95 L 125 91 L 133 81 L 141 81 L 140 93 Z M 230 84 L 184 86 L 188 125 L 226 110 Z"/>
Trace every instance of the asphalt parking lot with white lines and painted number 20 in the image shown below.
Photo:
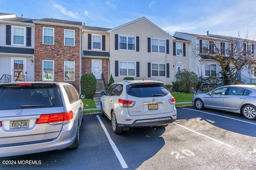
<path fill-rule="evenodd" d="M 78 149 L 0 158 L 0 169 L 246 169 L 256 167 L 256 121 L 206 109 L 177 109 L 166 128 L 114 134 L 110 121 L 85 117 Z M 16 160 L 5 165 L 2 161 Z M 36 160 L 40 164 L 17 164 Z"/>

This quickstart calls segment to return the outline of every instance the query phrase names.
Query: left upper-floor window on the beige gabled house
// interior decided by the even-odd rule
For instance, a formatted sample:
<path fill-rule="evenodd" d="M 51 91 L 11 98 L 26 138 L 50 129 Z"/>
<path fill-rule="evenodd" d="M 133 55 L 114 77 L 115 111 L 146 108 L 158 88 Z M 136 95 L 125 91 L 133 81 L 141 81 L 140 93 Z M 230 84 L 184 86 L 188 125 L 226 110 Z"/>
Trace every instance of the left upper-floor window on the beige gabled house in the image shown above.
<path fill-rule="evenodd" d="M 119 36 L 119 49 L 135 50 L 135 37 Z"/>

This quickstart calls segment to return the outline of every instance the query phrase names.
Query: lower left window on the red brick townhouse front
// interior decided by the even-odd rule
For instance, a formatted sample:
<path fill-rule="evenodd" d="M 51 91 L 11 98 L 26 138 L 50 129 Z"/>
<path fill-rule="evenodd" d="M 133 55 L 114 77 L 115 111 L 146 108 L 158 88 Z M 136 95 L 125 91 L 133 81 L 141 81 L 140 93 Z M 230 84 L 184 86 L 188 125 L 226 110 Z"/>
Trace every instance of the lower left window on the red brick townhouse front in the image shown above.
<path fill-rule="evenodd" d="M 54 81 L 54 61 L 43 60 L 43 81 Z"/>

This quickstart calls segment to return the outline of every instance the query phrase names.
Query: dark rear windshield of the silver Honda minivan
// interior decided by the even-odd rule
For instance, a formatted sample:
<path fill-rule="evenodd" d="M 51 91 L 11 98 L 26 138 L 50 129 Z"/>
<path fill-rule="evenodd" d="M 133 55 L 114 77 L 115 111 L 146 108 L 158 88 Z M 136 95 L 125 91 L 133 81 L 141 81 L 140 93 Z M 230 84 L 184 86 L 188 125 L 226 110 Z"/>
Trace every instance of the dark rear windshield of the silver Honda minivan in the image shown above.
<path fill-rule="evenodd" d="M 0 110 L 62 107 L 60 89 L 50 85 L 0 86 Z"/>

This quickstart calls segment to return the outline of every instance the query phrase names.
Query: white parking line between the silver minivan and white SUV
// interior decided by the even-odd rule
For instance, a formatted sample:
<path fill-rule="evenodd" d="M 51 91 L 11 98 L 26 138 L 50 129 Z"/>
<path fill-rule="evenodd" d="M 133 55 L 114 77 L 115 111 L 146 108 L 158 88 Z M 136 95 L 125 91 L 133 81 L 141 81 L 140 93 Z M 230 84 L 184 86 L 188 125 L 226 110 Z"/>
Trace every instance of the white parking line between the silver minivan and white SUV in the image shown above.
<path fill-rule="evenodd" d="M 121 155 L 121 153 L 119 152 L 118 148 L 116 147 L 115 143 L 113 142 L 113 140 L 111 139 L 108 130 L 106 129 L 105 125 L 102 123 L 100 117 L 97 115 L 97 118 L 100 122 L 100 125 L 102 126 L 105 134 L 107 135 L 108 141 L 110 142 L 110 145 L 112 146 L 112 149 L 114 150 L 116 157 L 118 158 L 120 164 L 122 165 L 123 168 L 128 168 L 127 164 L 124 161 L 123 156 Z"/>

